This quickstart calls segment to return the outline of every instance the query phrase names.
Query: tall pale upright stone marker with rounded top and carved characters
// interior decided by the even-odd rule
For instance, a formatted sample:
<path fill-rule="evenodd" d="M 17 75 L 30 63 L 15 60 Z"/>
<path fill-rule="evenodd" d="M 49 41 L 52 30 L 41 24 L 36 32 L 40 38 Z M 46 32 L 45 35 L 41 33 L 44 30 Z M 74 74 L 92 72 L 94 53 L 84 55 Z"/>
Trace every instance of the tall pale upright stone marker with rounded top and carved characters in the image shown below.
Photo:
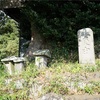
<path fill-rule="evenodd" d="M 95 64 L 93 31 L 90 28 L 78 30 L 80 64 Z"/>

